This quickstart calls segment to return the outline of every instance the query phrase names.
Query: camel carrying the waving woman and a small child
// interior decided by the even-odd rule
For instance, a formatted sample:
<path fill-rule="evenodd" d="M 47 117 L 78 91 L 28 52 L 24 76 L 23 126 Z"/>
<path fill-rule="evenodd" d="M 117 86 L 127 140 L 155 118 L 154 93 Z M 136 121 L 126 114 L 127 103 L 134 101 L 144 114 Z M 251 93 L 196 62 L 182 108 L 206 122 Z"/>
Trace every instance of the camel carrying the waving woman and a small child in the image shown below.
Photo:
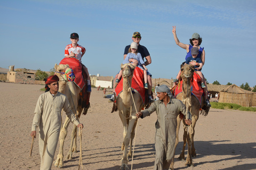
<path fill-rule="evenodd" d="M 193 65 L 190 64 L 185 64 L 181 65 L 181 78 L 183 80 L 182 82 L 182 92 L 176 97 L 177 99 L 181 100 L 183 104 L 185 104 L 187 111 L 191 113 L 192 116 L 192 124 L 190 125 L 189 131 L 187 132 L 187 128 L 184 129 L 183 133 L 183 148 L 182 152 L 179 156 L 178 159 L 180 160 L 185 160 L 185 147 L 186 143 L 188 142 L 188 156 L 186 160 L 186 166 L 193 166 L 194 164 L 192 162 L 191 157 L 196 157 L 196 150 L 194 147 L 194 134 L 195 134 L 195 126 L 196 126 L 196 121 L 198 120 L 199 117 L 199 109 L 200 109 L 200 103 L 197 100 L 197 98 L 192 95 L 191 96 L 191 82 L 190 80 L 193 79 L 193 74 L 194 74 L 195 68 Z M 202 101 L 204 101 L 202 97 Z M 203 104 L 203 102 L 202 102 Z M 204 106 L 205 108 L 205 106 Z M 209 108 L 206 109 L 207 111 L 203 111 L 204 115 L 207 115 L 209 112 Z M 202 112 L 201 112 L 202 114 Z M 175 148 L 177 147 L 179 143 L 179 129 L 180 129 L 180 123 L 181 119 L 180 116 L 177 117 L 177 130 L 176 130 L 176 142 L 175 142 Z M 183 124 L 186 125 L 185 121 L 183 120 Z M 174 166 L 174 158 L 172 160 L 172 163 L 170 165 L 171 169 Z"/>

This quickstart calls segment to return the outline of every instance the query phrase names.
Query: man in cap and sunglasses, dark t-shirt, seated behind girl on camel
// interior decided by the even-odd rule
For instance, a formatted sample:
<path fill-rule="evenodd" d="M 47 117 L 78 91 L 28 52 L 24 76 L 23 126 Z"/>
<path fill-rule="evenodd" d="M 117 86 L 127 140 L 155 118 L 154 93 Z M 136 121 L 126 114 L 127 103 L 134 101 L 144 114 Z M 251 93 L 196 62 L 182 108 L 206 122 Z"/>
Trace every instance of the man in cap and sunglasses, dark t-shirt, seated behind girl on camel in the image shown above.
<path fill-rule="evenodd" d="M 148 52 L 148 49 L 145 46 L 140 45 L 140 40 L 141 40 L 140 32 L 134 32 L 132 35 L 132 40 L 133 40 L 133 42 L 138 44 L 138 53 L 141 54 L 142 59 L 145 61 L 144 58 L 146 58 L 145 65 L 151 64 L 151 57 Z M 129 51 L 130 47 L 131 47 L 131 45 L 127 45 L 124 49 L 124 60 L 125 60 L 127 54 L 129 53 L 128 51 Z M 138 61 L 135 61 L 134 64 L 138 64 Z M 148 89 L 150 90 L 150 94 L 152 94 L 152 90 L 151 90 L 152 89 L 152 81 L 151 81 L 152 75 L 149 72 L 147 72 L 147 73 L 148 73 Z M 116 75 L 114 82 L 116 82 L 117 77 L 118 77 L 118 74 Z M 114 92 L 115 92 L 115 87 L 114 87 Z M 151 98 L 151 95 L 149 95 L 149 98 L 152 101 L 154 101 L 154 99 Z M 108 100 L 108 102 L 113 102 L 113 101 L 114 101 L 114 95 L 111 97 L 111 99 Z"/>

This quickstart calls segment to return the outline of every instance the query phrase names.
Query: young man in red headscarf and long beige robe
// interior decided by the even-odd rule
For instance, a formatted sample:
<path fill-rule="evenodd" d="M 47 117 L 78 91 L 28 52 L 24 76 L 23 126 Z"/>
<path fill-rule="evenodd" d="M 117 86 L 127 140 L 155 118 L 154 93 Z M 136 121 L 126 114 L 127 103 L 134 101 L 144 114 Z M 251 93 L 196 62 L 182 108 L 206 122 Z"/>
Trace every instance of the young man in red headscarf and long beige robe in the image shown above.
<path fill-rule="evenodd" d="M 40 95 L 35 109 L 35 116 L 31 129 L 31 137 L 36 138 L 36 128 L 39 126 L 39 153 L 41 156 L 40 169 L 51 169 L 55 150 L 59 140 L 61 129 L 61 110 L 66 112 L 70 121 L 83 128 L 76 116 L 71 110 L 67 97 L 59 90 L 59 78 L 57 75 L 51 75 L 45 81 L 45 89 L 49 91 Z"/>

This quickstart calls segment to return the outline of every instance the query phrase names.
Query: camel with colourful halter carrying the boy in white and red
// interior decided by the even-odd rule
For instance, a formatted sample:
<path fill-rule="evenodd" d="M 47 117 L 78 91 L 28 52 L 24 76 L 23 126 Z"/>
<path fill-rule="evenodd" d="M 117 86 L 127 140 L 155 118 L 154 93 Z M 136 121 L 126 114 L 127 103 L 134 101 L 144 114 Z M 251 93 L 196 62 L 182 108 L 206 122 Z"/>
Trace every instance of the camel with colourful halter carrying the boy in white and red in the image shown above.
<path fill-rule="evenodd" d="M 55 64 L 54 69 L 55 69 L 55 74 L 60 79 L 59 92 L 67 96 L 71 109 L 73 113 L 76 115 L 77 120 L 79 120 L 79 117 L 81 116 L 81 114 L 83 113 L 85 115 L 88 111 L 88 107 L 82 108 L 83 107 L 82 102 L 78 102 L 79 99 L 81 99 L 81 96 L 79 95 L 79 93 L 81 92 L 81 89 L 73 81 L 67 81 L 65 79 L 65 75 L 63 74 L 64 73 L 63 71 L 65 71 L 66 69 L 69 70 L 69 65 Z M 63 167 L 63 144 L 67 136 L 67 129 L 68 129 L 69 123 L 70 123 L 70 120 L 68 117 L 66 117 L 66 120 L 62 125 L 61 131 L 60 131 L 60 137 L 59 137 L 60 150 L 54 164 L 55 167 L 59 167 L 59 168 Z M 72 152 L 77 152 L 76 133 L 77 133 L 77 128 L 76 128 L 76 125 L 74 125 L 73 131 L 71 134 L 71 143 L 70 143 L 70 149 L 68 152 L 67 159 L 72 159 Z"/>

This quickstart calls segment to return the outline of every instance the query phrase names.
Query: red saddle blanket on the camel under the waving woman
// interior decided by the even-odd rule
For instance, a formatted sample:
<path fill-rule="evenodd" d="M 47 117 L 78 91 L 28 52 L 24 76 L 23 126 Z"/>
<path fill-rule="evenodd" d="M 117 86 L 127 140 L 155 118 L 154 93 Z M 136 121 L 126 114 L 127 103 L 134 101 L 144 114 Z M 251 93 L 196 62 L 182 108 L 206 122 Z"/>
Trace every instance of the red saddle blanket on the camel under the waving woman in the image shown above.
<path fill-rule="evenodd" d="M 173 96 L 175 98 L 177 95 L 180 94 L 180 92 L 182 92 L 182 82 L 183 81 L 181 80 L 180 83 L 178 84 L 178 86 L 174 89 Z M 194 95 L 198 99 L 200 105 L 202 105 L 201 101 L 202 101 L 202 95 L 204 94 L 204 90 L 201 88 L 200 82 L 201 82 L 200 76 L 196 72 L 194 72 L 193 79 L 191 79 L 192 86 L 191 86 L 190 91 L 191 91 L 191 94 Z"/>

